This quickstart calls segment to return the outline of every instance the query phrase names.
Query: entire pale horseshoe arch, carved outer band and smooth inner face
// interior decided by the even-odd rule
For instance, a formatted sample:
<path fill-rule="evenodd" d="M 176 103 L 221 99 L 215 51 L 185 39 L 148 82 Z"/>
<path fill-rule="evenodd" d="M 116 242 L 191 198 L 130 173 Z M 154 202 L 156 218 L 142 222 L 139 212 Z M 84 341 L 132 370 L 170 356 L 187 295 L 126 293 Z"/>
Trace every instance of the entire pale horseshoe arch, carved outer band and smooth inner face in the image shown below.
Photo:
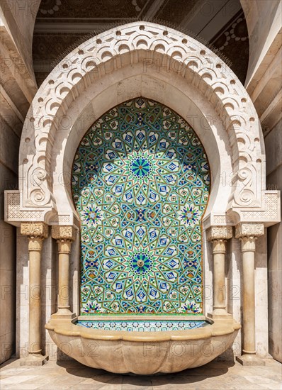
<path fill-rule="evenodd" d="M 6 221 L 75 223 L 69 175 L 79 140 L 98 116 L 137 96 L 193 120 L 213 178 L 205 228 L 278 221 L 278 192 L 265 191 L 264 140 L 247 91 L 204 45 L 147 22 L 87 40 L 45 79 L 24 123 L 20 188 L 6 191 Z"/>

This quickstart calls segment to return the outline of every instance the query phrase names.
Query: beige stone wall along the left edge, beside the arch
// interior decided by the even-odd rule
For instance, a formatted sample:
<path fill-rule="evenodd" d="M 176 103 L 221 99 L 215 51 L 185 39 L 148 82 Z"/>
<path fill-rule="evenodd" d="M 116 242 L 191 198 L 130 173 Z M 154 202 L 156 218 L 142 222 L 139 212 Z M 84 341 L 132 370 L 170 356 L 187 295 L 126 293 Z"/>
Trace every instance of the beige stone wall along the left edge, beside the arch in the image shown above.
<path fill-rule="evenodd" d="M 17 238 L 16 228 L 4 223 L 4 190 L 18 189 L 21 130 L 37 90 L 31 48 L 39 4 L 4 0 L 0 6 L 0 363 L 16 351 Z"/>

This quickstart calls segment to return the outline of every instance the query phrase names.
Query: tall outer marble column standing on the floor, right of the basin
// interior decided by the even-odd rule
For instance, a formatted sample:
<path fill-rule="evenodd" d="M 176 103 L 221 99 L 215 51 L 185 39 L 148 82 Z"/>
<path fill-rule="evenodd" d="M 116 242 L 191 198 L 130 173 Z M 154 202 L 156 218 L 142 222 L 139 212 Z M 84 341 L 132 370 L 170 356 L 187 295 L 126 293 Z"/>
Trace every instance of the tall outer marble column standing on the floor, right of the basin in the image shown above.
<path fill-rule="evenodd" d="M 256 356 L 255 286 L 254 264 L 256 238 L 264 234 L 263 223 L 239 223 L 236 225 L 236 238 L 241 240 L 242 286 L 243 286 L 243 327 L 242 356 L 237 357 L 243 365 L 264 365 L 264 360 Z"/>

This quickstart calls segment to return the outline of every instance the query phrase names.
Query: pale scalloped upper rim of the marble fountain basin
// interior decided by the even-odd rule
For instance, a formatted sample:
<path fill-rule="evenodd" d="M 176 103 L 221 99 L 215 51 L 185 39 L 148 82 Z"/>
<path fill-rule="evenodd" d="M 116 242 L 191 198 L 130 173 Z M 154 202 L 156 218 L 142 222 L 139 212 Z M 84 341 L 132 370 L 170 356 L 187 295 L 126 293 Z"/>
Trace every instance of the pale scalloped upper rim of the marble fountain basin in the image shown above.
<path fill-rule="evenodd" d="M 209 322 L 210 318 L 206 318 Z M 232 320 L 213 320 L 213 323 L 203 328 L 187 330 L 166 330 L 159 332 L 128 332 L 125 330 L 97 330 L 91 328 L 82 328 L 75 325 L 74 322 L 67 320 L 50 320 L 45 325 L 47 330 L 52 330 L 59 335 L 82 337 L 91 340 L 127 340 L 135 342 L 144 341 L 167 341 L 167 340 L 203 340 L 213 336 L 229 335 L 241 328 L 241 325 Z"/>

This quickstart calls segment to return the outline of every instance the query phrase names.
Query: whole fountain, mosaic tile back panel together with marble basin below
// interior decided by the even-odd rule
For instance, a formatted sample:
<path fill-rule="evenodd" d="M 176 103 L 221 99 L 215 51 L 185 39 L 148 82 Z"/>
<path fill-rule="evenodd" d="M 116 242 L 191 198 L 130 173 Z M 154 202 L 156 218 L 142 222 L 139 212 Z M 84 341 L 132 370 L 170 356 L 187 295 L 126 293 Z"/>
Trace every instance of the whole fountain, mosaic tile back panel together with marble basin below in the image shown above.
<path fill-rule="evenodd" d="M 89 128 L 72 173 L 81 316 L 46 325 L 60 349 L 90 367 L 156 374 L 201 366 L 232 345 L 239 324 L 220 308 L 203 316 L 209 188 L 201 141 L 170 108 L 140 97 Z"/>

